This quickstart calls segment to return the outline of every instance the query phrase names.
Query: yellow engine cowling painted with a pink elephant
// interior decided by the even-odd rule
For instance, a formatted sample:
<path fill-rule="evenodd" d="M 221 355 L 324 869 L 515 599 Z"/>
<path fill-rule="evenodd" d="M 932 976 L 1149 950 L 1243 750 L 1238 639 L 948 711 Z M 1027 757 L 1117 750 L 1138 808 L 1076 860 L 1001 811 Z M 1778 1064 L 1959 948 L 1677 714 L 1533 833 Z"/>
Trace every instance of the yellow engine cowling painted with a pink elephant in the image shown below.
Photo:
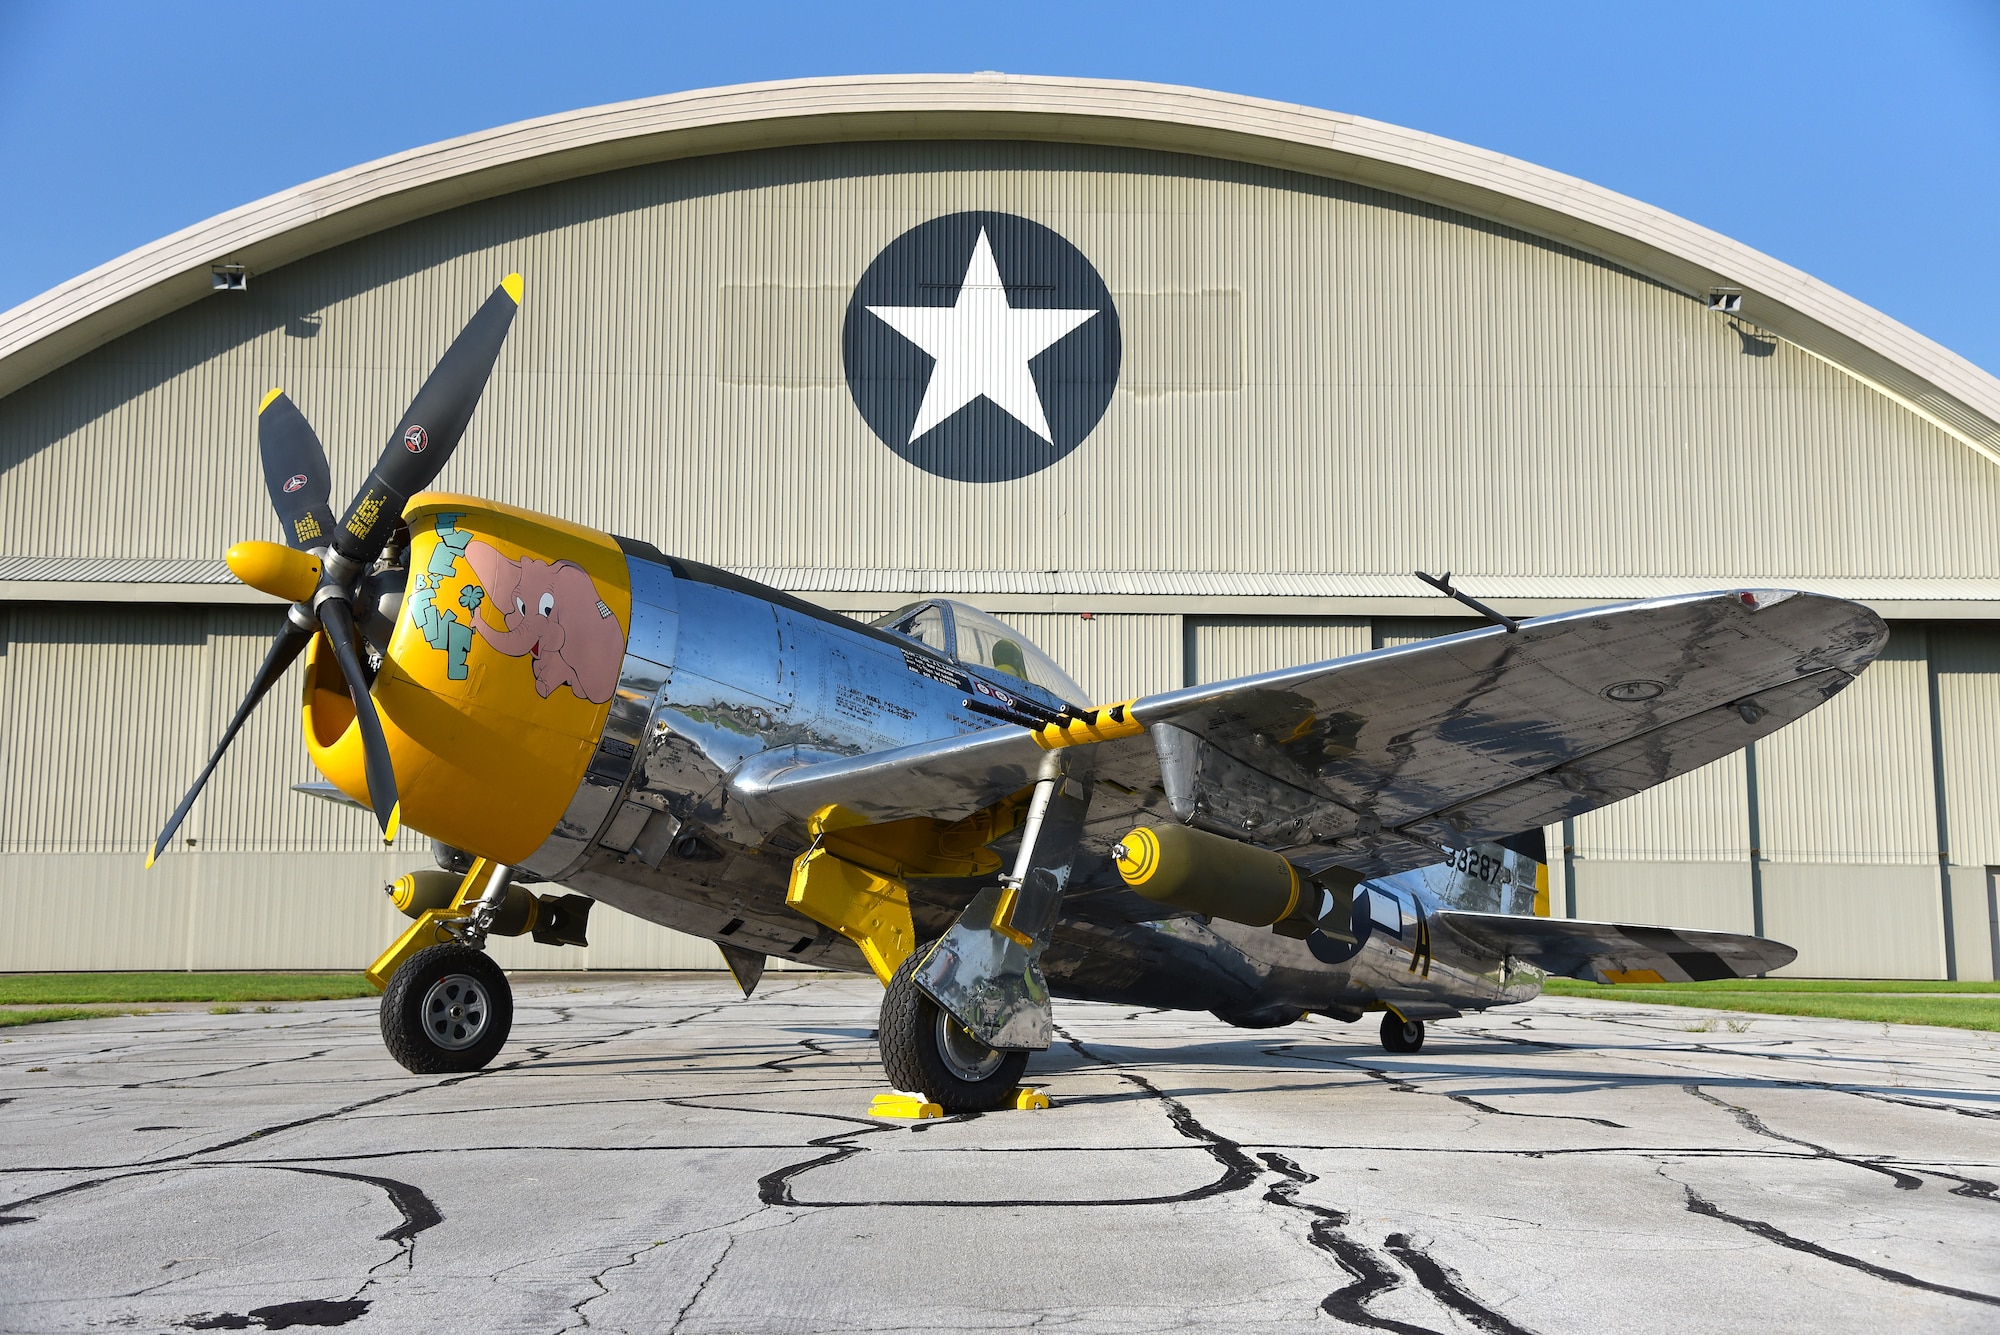
<path fill-rule="evenodd" d="M 596 530 L 464 496 L 410 502 L 410 578 L 372 695 L 402 823 L 502 863 L 556 827 L 604 731 L 632 588 Z M 368 803 L 362 741 L 324 634 L 306 658 L 306 749 Z"/>

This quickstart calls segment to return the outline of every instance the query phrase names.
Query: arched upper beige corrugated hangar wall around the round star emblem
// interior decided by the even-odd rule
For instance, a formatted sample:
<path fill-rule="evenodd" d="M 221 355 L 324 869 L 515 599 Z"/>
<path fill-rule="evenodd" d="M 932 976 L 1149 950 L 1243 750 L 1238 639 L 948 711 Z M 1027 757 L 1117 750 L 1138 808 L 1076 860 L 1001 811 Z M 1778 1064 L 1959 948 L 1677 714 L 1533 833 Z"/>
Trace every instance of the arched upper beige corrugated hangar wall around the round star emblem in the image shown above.
<path fill-rule="evenodd" d="M 838 366 L 856 276 L 966 208 L 1080 246 L 1132 362 L 1084 448 L 998 486 L 902 464 Z M 724 566 L 1990 574 L 2000 470 L 1696 300 L 1340 182 L 1056 144 L 634 168 L 258 274 L 0 400 L 0 556 L 98 556 L 104 514 L 162 560 L 272 534 L 262 392 L 352 488 L 510 268 L 526 306 L 444 484 Z"/>

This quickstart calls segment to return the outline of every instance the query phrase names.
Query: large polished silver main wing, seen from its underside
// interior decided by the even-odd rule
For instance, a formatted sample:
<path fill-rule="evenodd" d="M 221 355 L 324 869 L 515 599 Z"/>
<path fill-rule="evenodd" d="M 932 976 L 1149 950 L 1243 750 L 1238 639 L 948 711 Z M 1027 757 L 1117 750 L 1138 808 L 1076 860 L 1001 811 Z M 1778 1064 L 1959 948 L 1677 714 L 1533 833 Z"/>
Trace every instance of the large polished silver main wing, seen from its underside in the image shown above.
<path fill-rule="evenodd" d="M 1844 689 L 1886 640 L 1836 598 L 1694 594 L 1148 695 L 1128 705 L 1146 733 L 1094 743 L 1090 825 L 1150 809 L 1314 871 L 1386 875 L 1728 755 Z M 1048 759 L 1036 733 L 998 725 L 850 759 L 766 757 L 736 795 L 762 821 L 834 801 L 876 821 L 954 819 Z"/>

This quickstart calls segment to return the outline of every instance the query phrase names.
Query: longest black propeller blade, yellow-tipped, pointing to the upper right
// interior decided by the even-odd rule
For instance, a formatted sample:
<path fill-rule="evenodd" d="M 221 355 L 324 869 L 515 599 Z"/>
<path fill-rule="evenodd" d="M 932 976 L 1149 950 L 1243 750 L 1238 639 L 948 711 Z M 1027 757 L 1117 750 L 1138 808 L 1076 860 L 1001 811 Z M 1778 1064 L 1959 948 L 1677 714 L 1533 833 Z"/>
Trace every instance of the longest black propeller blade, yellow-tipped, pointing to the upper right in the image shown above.
<path fill-rule="evenodd" d="M 410 400 L 368 482 L 340 518 L 334 546 L 358 566 L 372 562 L 402 520 L 404 504 L 444 470 L 478 408 L 500 346 L 520 310 L 520 274 L 508 274 L 478 308 L 430 380 Z"/>

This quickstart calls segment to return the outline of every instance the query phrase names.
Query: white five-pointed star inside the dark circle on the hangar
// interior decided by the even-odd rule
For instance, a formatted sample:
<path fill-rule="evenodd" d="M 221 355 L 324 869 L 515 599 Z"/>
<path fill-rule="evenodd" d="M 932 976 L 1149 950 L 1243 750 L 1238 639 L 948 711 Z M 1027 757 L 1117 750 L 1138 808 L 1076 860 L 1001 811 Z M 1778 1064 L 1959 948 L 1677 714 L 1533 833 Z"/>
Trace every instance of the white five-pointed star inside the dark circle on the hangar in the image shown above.
<path fill-rule="evenodd" d="M 986 228 L 980 228 L 980 244 L 972 248 L 972 264 L 966 266 L 956 304 L 868 310 L 936 358 L 930 384 L 924 388 L 924 406 L 916 414 L 916 426 L 910 428 L 912 442 L 984 396 L 1030 432 L 1056 444 L 1028 362 L 1098 312 L 1008 306 Z"/>

